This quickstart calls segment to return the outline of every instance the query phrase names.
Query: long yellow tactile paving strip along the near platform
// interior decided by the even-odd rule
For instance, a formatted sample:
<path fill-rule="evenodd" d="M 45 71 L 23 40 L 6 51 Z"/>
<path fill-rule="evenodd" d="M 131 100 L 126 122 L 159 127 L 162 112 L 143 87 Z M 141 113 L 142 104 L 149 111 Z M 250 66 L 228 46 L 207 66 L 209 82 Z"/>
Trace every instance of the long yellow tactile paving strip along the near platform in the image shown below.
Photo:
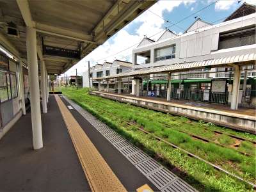
<path fill-rule="evenodd" d="M 92 191 L 126 191 L 60 97 L 55 99 Z"/>

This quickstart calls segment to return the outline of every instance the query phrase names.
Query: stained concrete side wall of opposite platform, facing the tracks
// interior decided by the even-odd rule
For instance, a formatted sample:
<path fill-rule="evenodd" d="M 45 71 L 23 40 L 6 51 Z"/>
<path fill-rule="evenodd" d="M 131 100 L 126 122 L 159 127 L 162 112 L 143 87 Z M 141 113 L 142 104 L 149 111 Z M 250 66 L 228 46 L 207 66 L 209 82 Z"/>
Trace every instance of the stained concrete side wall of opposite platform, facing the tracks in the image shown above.
<path fill-rule="evenodd" d="M 180 104 L 172 104 L 169 102 L 161 102 L 158 100 L 147 100 L 136 97 L 128 97 L 125 95 L 111 95 L 109 93 L 92 92 L 92 95 L 98 95 L 106 99 L 118 100 L 140 106 L 143 108 L 154 109 L 164 113 L 172 113 L 174 115 L 187 116 L 195 120 L 204 120 L 216 125 L 229 127 L 239 131 L 256 133 L 256 117 L 246 116 L 237 113 L 229 113 L 225 111 L 216 111 L 214 109 L 196 108 L 192 106 L 183 106 Z"/>

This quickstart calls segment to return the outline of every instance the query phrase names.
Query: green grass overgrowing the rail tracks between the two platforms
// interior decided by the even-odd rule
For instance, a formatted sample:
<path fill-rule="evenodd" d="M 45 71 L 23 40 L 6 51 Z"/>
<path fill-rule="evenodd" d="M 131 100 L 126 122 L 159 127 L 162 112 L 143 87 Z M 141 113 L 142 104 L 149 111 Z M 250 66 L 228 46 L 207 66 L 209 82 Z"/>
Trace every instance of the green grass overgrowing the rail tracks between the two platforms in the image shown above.
<path fill-rule="evenodd" d="M 74 100 L 81 107 L 97 116 L 109 127 L 132 141 L 132 143 L 143 148 L 145 152 L 157 159 L 157 161 L 161 161 L 162 164 L 199 191 L 253 191 L 244 182 L 221 173 L 202 161 L 187 156 L 179 149 L 172 148 L 163 141 L 156 140 L 134 126 L 151 132 L 254 183 L 256 177 L 255 145 L 250 141 L 238 143 L 237 150 L 252 154 L 252 157 L 244 156 L 237 152 L 235 148 L 232 148 L 236 144 L 236 140 L 230 138 L 227 134 L 254 141 L 256 140 L 255 135 L 233 131 L 213 124 L 205 124 L 204 122 L 196 122 L 183 116 L 168 115 L 132 106 L 131 104 L 103 99 L 89 95 L 86 89 L 62 88 L 61 91 L 69 99 Z M 122 120 L 130 122 L 134 126 L 127 125 Z M 227 134 L 216 134 L 214 131 L 221 131 Z M 227 147 L 195 140 L 189 134 L 207 138 Z"/>

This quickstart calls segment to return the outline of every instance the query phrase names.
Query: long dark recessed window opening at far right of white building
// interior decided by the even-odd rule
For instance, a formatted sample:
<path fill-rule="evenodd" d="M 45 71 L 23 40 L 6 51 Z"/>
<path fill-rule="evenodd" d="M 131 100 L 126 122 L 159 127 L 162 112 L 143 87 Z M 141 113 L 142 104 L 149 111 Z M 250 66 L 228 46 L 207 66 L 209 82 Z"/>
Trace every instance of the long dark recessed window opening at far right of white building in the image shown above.
<path fill-rule="evenodd" d="M 255 44 L 255 26 L 220 33 L 219 49 Z"/>

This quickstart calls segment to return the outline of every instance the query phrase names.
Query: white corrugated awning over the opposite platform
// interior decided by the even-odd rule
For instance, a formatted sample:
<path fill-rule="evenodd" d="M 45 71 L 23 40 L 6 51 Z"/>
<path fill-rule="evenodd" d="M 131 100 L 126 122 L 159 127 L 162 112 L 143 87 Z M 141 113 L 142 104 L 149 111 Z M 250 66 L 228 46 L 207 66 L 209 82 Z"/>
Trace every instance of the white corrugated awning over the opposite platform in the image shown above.
<path fill-rule="evenodd" d="M 108 77 L 98 77 L 93 78 L 93 80 L 100 80 L 100 79 L 113 79 L 118 77 L 131 77 L 131 76 L 143 76 L 148 74 L 159 74 L 159 73 L 168 73 L 168 72 L 180 72 L 180 71 L 188 71 L 195 68 L 204 68 L 204 67 L 222 67 L 225 65 L 232 66 L 237 65 L 243 62 L 244 65 L 252 64 L 250 62 L 256 60 L 256 53 L 250 54 L 243 54 L 237 55 L 232 57 L 226 58 L 218 58 L 212 60 L 204 60 L 204 61 L 195 61 L 189 63 L 176 63 L 173 65 L 163 66 L 163 67 L 156 67 L 156 68 L 149 68 L 146 70 L 135 70 L 129 73 L 124 74 L 117 74 L 115 76 L 108 76 Z"/>

